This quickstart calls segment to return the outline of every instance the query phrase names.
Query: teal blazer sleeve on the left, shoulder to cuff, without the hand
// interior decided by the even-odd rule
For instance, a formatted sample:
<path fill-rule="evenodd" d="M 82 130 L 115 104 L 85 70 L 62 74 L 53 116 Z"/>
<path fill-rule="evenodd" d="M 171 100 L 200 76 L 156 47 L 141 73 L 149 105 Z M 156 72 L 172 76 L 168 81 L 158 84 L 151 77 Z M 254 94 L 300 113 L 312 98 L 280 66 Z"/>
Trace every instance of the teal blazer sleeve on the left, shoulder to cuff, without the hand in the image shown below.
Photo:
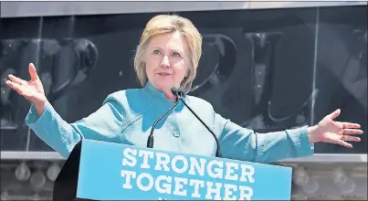
<path fill-rule="evenodd" d="M 41 140 L 67 158 L 82 138 L 118 142 L 122 118 L 120 103 L 110 95 L 98 111 L 73 123 L 64 121 L 48 101 L 40 116 L 35 105 L 32 105 L 26 115 L 26 125 Z"/>

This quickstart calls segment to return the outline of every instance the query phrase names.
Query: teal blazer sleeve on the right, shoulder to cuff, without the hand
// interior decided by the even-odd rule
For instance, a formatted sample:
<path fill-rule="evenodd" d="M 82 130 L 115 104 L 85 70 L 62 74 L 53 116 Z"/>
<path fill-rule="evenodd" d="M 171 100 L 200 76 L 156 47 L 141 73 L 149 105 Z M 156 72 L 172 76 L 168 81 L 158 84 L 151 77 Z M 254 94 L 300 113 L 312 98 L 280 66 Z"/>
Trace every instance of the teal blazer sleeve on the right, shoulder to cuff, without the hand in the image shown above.
<path fill-rule="evenodd" d="M 223 157 L 272 163 L 314 153 L 307 126 L 282 132 L 256 133 L 222 117 L 217 118 L 217 121 L 223 122 L 224 125 L 219 139 Z"/>

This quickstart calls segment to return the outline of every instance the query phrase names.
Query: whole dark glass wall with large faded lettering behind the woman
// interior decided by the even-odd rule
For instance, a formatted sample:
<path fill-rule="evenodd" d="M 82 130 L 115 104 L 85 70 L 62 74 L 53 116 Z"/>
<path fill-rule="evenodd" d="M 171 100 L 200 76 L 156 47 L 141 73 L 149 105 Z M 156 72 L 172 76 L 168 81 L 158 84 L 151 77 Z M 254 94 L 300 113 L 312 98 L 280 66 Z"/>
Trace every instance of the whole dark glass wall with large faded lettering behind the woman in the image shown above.
<path fill-rule="evenodd" d="M 204 37 L 190 94 L 256 132 L 317 123 L 336 108 L 342 109 L 340 120 L 360 122 L 366 132 L 364 8 L 179 13 Z M 47 99 L 64 120 L 75 122 L 96 111 L 110 93 L 140 87 L 132 58 L 143 27 L 155 15 L 2 18 L 2 78 L 15 72 L 29 79 L 27 64 L 37 63 Z M 7 48 L 9 44 L 13 48 Z M 1 149 L 51 151 L 33 132 L 27 138 L 24 118 L 29 103 L 3 84 Z M 316 150 L 363 153 L 363 144 L 347 150 L 318 143 Z"/>

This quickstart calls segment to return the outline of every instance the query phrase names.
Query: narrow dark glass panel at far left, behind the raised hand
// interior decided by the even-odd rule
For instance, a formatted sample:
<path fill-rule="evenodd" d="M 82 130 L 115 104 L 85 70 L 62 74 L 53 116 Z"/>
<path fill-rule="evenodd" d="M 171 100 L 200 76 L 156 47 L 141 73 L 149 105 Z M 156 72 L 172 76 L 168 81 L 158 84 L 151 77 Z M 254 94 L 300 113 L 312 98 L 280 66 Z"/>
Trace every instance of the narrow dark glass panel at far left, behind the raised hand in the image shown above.
<path fill-rule="evenodd" d="M 1 150 L 26 151 L 31 132 L 24 124 L 29 103 L 5 85 L 8 74 L 28 79 L 24 61 L 37 58 L 42 22 L 39 18 L 0 19 Z M 32 44 L 32 45 L 30 45 Z"/>

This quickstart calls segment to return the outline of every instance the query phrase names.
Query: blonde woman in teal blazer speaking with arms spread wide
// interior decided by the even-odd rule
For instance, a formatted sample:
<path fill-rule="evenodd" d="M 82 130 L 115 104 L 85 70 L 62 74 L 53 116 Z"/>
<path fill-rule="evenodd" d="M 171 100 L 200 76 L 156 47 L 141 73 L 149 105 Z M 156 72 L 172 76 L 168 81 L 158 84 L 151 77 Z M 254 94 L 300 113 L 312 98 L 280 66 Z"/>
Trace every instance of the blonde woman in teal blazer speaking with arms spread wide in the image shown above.
<path fill-rule="evenodd" d="M 191 89 L 202 53 L 202 37 L 188 19 L 154 16 L 145 27 L 134 58 L 134 69 L 142 89 L 110 94 L 98 111 L 78 122 L 68 123 L 47 101 L 33 64 L 29 81 L 9 75 L 6 84 L 32 102 L 26 124 L 64 157 L 82 138 L 146 146 L 153 122 L 176 102 L 173 87 Z M 318 125 L 282 132 L 255 133 L 226 120 L 205 100 L 184 96 L 184 101 L 213 130 L 222 157 L 258 163 L 308 156 L 313 143 L 338 143 L 346 147 L 360 138 L 360 125 L 334 122 L 340 110 Z M 216 140 L 182 102 L 154 131 L 153 148 L 179 153 L 215 155 Z"/>

